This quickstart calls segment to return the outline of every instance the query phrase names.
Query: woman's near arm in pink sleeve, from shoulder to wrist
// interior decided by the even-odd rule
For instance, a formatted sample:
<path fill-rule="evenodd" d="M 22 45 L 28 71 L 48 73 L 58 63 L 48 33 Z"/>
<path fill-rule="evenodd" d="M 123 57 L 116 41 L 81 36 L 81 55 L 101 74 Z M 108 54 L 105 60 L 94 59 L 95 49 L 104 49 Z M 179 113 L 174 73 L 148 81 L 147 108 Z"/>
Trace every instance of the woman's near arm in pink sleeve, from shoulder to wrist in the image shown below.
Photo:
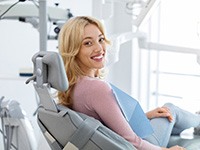
<path fill-rule="evenodd" d="M 91 94 L 93 97 L 93 101 L 91 102 L 92 109 L 94 109 L 107 127 L 131 142 L 137 149 L 161 149 L 141 139 L 133 132 L 116 102 L 111 87 L 106 82 L 95 81 L 90 87 L 92 87 Z"/>

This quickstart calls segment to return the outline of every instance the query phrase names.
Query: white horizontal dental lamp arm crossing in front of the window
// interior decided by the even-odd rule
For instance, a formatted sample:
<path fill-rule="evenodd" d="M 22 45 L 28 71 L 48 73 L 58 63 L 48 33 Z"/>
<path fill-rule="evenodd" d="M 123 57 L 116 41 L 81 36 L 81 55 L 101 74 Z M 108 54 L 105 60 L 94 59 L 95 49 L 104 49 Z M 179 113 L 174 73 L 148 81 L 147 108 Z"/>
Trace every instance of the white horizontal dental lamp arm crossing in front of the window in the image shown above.
<path fill-rule="evenodd" d="M 128 41 L 131 41 L 134 38 L 138 39 L 139 48 L 142 49 L 196 54 L 197 62 L 200 65 L 200 49 L 147 42 L 145 33 L 139 31 L 135 33 L 126 32 L 123 34 L 116 34 L 110 36 L 112 45 L 111 47 L 109 47 L 108 57 L 110 57 L 109 59 L 111 59 L 111 61 L 108 63 L 108 65 L 114 64 L 119 60 L 120 45 Z"/>

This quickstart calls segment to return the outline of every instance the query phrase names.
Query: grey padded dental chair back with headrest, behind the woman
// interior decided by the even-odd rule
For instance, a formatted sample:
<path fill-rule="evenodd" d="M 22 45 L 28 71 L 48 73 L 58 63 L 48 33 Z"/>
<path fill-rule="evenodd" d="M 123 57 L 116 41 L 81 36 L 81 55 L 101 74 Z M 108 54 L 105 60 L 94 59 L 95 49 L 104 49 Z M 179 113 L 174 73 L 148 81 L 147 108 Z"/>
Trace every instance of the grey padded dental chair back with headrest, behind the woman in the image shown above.
<path fill-rule="evenodd" d="M 66 91 L 68 80 L 64 64 L 56 52 L 42 51 L 33 56 L 34 87 L 41 106 L 38 124 L 53 150 L 133 150 L 132 144 L 98 120 L 57 105 L 50 88 Z"/>

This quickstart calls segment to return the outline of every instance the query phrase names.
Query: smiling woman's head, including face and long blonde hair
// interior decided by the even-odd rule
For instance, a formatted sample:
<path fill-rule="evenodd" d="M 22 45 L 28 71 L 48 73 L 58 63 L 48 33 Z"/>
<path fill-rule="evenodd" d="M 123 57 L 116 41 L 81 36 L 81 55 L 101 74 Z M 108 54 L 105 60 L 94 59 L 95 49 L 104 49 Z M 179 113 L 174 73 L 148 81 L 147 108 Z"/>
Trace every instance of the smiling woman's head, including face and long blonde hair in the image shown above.
<path fill-rule="evenodd" d="M 95 30 L 93 31 L 91 29 Z M 81 76 L 103 76 L 101 70 L 105 61 L 105 44 L 109 43 L 109 40 L 105 36 L 103 25 L 95 18 L 72 18 L 62 27 L 59 35 L 59 51 L 62 55 L 69 80 L 69 90 L 66 93 L 61 92 L 58 94 L 62 104 L 68 107 L 72 106 L 73 102 L 70 93 L 75 83 L 78 81 L 78 78 Z M 96 48 L 99 50 L 96 50 Z M 87 53 L 88 56 L 82 56 L 80 53 Z M 82 59 L 82 57 L 84 57 L 84 59 Z M 99 59 L 101 57 L 102 60 Z M 100 66 L 94 69 L 90 66 L 90 69 L 87 70 L 89 66 L 83 65 L 85 59 L 87 60 L 87 65 L 91 65 L 92 63 L 100 64 Z M 81 66 L 83 66 L 83 68 L 81 68 Z"/>

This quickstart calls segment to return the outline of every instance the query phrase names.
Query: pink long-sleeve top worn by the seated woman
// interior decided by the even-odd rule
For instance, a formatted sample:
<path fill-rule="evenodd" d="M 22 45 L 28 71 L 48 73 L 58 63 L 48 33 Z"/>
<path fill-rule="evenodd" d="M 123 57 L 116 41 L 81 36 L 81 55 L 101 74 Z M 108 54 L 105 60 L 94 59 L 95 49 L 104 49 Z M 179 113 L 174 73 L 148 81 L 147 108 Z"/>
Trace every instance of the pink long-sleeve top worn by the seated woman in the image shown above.
<path fill-rule="evenodd" d="M 138 137 L 124 118 L 110 85 L 102 80 L 82 77 L 73 92 L 73 109 L 100 120 L 131 142 L 138 150 L 161 150 Z"/>

